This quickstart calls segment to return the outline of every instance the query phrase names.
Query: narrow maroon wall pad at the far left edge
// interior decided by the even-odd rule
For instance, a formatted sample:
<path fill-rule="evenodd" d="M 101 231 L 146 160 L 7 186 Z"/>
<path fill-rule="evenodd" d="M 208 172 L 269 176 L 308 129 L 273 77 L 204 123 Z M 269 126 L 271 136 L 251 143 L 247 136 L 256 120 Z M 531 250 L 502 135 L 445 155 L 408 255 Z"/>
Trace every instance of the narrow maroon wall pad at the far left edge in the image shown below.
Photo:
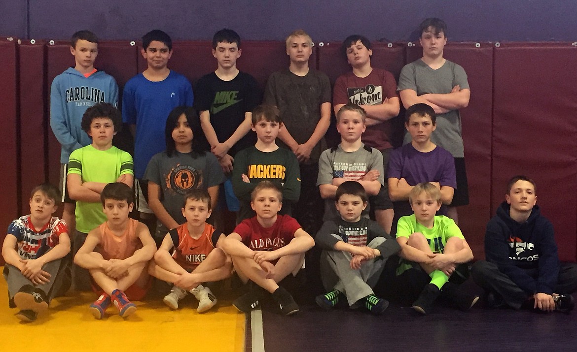
<path fill-rule="evenodd" d="M 16 81 L 16 41 L 0 40 L 0 106 L 2 107 L 2 128 L 0 128 L 0 240 L 3 242 L 10 222 L 18 216 L 18 160 L 17 160 L 17 81 Z M 33 102 L 31 102 L 33 104 Z M 0 258 L 0 264 L 4 261 Z"/>

